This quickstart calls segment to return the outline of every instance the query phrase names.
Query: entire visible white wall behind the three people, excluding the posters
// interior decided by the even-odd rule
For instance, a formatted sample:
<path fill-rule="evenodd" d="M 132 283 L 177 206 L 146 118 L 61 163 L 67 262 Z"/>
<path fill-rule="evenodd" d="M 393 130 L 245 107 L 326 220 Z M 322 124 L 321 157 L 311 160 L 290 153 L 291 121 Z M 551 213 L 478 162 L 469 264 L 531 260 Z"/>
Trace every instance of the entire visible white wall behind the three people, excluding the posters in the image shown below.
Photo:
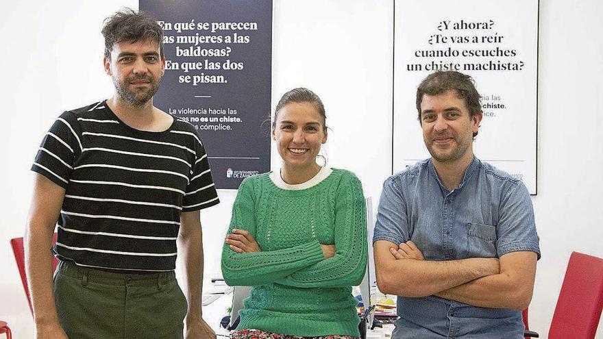
<path fill-rule="evenodd" d="M 391 168 L 391 0 L 275 0 L 273 103 L 294 86 L 325 102 L 332 127 L 328 158 L 362 180 L 378 199 Z M 32 337 L 8 240 L 22 236 L 32 186 L 29 166 L 62 110 L 108 97 L 101 68 L 103 18 L 138 1 L 3 1 L 0 4 L 4 133 L 0 134 L 0 320 L 16 338 Z M 533 198 L 543 258 L 530 325 L 545 337 L 572 250 L 603 257 L 603 88 L 598 1 L 541 1 L 539 48 L 539 194 Z M 414 95 L 414 93 L 408 93 Z M 418 125 L 417 125 L 417 128 Z M 278 156 L 273 155 L 273 168 Z M 206 277 L 219 275 L 219 251 L 234 193 L 202 212 Z M 597 338 L 603 338 L 600 330 Z"/>

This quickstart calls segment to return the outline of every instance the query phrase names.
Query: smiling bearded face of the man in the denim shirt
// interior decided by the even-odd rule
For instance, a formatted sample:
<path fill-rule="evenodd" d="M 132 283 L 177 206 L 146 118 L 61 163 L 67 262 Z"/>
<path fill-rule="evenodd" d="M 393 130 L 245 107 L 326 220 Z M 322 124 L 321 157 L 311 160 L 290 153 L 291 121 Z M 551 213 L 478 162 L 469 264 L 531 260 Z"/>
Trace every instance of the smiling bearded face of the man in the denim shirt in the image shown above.
<path fill-rule="evenodd" d="M 480 121 L 482 114 L 470 116 L 465 100 L 459 99 L 454 90 L 441 95 L 423 95 L 423 141 L 437 162 L 473 157 L 473 133 L 478 131 Z"/>

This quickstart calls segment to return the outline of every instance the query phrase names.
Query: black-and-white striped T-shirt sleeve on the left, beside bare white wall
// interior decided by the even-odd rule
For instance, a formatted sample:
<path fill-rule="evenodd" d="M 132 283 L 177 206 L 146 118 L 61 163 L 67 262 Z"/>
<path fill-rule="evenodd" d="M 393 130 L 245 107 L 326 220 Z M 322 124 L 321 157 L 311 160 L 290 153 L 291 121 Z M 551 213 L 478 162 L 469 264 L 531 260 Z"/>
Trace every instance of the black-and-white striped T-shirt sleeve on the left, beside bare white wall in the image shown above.
<path fill-rule="evenodd" d="M 78 134 L 81 133 L 74 114 L 61 114 L 42 139 L 32 171 L 66 188 L 75 159 L 82 153 L 82 142 Z"/>

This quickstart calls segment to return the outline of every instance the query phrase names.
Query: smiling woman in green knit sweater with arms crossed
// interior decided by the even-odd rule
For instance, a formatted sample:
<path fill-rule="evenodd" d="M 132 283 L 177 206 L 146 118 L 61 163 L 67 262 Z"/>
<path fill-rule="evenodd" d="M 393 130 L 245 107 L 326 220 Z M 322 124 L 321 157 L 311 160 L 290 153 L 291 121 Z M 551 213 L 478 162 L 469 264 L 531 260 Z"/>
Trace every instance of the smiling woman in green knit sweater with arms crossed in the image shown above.
<path fill-rule="evenodd" d="M 352 286 L 367 264 L 362 185 L 317 164 L 327 127 L 314 92 L 285 93 L 272 137 L 282 168 L 243 180 L 222 252 L 226 283 L 253 286 L 232 338 L 358 337 Z"/>

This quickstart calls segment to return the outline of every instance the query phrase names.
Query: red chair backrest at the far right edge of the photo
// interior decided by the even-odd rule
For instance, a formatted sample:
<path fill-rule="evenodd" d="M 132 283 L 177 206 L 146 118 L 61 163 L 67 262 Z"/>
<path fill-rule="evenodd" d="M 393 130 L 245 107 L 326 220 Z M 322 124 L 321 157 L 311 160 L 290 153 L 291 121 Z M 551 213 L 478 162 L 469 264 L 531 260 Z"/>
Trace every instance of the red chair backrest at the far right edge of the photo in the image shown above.
<path fill-rule="evenodd" d="M 603 309 L 603 259 L 571 253 L 549 339 L 593 339 Z"/>

